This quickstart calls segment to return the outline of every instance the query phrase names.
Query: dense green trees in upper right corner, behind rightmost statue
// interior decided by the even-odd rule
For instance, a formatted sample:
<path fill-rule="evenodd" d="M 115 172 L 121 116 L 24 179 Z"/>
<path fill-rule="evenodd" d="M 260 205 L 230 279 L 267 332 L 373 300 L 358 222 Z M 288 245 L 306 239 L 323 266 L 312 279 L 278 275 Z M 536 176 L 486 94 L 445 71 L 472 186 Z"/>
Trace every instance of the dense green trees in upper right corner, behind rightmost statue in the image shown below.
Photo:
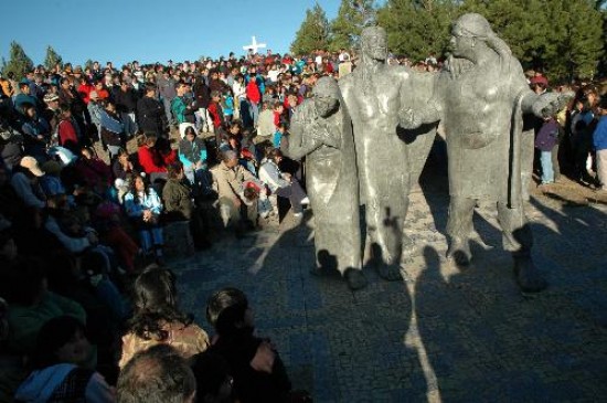
<path fill-rule="evenodd" d="M 553 82 L 590 78 L 604 52 L 596 0 L 467 0 L 511 47 L 524 68 L 540 68 Z"/>

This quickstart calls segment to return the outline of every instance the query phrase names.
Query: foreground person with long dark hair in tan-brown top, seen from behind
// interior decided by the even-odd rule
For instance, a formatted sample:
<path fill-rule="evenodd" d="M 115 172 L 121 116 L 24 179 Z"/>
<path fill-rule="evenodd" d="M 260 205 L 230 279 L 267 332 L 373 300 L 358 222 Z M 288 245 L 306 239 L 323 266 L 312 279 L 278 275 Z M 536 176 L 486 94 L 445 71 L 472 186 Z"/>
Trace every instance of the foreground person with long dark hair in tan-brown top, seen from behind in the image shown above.
<path fill-rule="evenodd" d="M 170 344 L 184 359 L 209 348 L 206 332 L 179 309 L 175 278 L 168 269 L 152 265 L 137 277 L 134 305 L 135 315 L 123 337 L 121 369 L 135 354 L 156 344 Z"/>

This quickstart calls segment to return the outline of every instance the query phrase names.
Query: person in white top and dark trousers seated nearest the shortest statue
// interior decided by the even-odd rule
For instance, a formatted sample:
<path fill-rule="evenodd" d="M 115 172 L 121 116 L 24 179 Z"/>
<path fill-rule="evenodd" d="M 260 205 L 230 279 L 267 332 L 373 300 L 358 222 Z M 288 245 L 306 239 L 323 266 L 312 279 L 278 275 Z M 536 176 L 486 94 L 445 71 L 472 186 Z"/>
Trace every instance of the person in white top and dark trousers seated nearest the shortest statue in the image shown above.
<path fill-rule="evenodd" d="M 301 218 L 302 204 L 308 204 L 310 201 L 301 189 L 301 185 L 296 178 L 290 173 L 283 173 L 278 165 L 283 159 L 283 152 L 275 148 L 268 148 L 266 158 L 262 161 L 259 168 L 259 180 L 268 185 L 273 193 L 281 198 L 288 198 L 294 211 L 295 218 Z"/>

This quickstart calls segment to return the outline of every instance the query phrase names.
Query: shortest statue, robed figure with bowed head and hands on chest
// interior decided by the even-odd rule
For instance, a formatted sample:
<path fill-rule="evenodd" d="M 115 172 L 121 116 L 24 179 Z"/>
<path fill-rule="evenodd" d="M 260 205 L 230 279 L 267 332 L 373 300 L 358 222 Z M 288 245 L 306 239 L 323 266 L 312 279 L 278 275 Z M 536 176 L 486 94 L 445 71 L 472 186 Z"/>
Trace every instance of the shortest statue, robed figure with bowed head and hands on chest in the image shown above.
<path fill-rule="evenodd" d="M 320 78 L 312 98 L 291 120 L 287 153 L 306 159 L 306 185 L 315 212 L 316 269 L 337 268 L 351 289 L 362 274 L 359 178 L 352 121 L 334 78 Z"/>

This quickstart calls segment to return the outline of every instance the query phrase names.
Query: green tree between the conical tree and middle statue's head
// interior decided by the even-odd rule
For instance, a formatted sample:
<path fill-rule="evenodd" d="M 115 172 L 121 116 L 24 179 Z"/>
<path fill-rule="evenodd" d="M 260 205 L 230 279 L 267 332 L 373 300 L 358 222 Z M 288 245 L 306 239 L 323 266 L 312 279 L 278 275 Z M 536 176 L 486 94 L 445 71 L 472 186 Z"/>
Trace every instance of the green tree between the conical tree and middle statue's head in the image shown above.
<path fill-rule="evenodd" d="M 374 22 L 373 0 L 341 0 L 338 15 L 331 21 L 329 47 L 332 51 L 356 47 L 363 28 Z"/>

